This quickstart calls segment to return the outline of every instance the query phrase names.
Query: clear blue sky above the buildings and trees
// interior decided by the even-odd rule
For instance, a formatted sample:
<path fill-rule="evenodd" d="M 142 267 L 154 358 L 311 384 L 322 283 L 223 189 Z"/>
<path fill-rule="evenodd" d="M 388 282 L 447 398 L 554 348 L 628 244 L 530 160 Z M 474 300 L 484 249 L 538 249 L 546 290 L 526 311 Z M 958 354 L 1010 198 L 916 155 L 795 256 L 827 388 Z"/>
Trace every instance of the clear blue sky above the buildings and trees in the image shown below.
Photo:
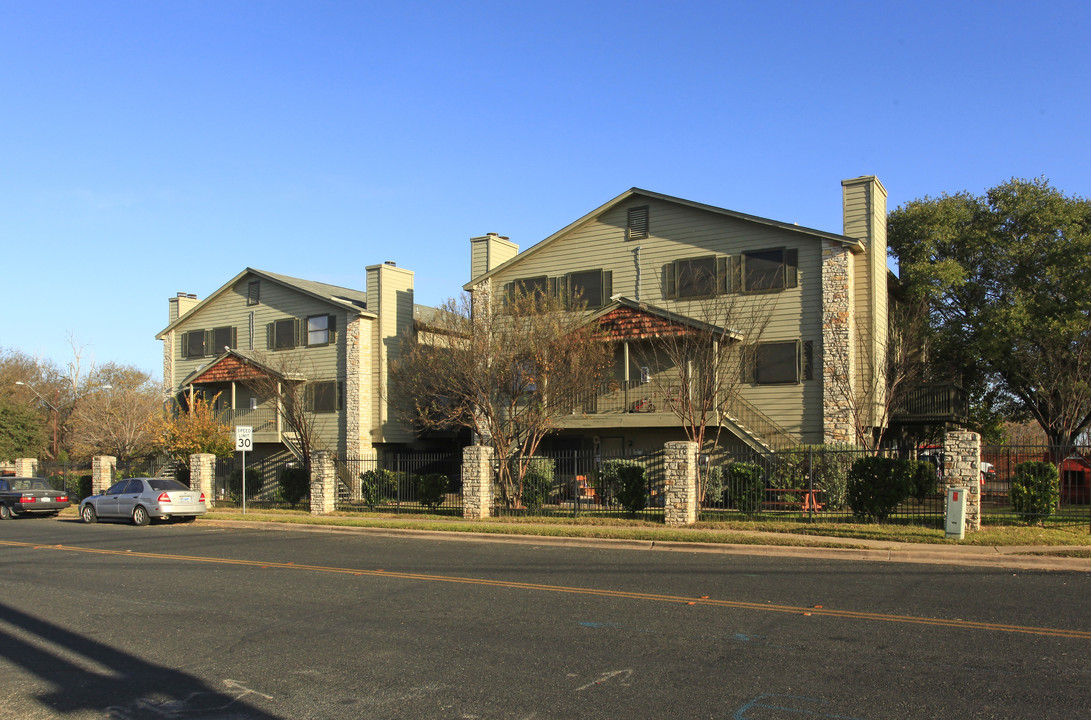
<path fill-rule="evenodd" d="M 0 0 L 0 347 L 159 376 L 247 266 L 455 295 L 631 187 L 841 231 L 1050 178 L 1091 195 L 1087 2 Z"/>

